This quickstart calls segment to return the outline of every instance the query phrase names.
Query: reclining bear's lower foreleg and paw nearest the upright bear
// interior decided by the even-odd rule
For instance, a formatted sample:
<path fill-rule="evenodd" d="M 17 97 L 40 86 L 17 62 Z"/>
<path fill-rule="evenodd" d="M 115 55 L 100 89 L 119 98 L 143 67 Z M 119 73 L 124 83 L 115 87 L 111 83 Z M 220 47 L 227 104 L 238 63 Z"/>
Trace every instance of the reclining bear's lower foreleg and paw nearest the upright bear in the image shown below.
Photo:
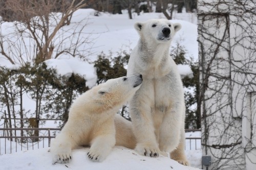
<path fill-rule="evenodd" d="M 102 162 L 111 152 L 116 143 L 115 134 L 97 136 L 91 142 L 87 156 L 92 161 Z"/>

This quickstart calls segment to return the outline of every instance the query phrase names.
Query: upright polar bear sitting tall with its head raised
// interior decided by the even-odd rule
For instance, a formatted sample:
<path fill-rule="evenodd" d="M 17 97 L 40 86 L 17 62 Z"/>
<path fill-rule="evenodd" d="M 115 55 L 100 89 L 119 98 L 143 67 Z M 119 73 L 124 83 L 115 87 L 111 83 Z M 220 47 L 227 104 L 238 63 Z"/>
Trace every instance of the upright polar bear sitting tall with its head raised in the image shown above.
<path fill-rule="evenodd" d="M 143 83 L 129 102 L 135 150 L 145 156 L 170 157 L 188 165 L 185 149 L 185 102 L 177 65 L 169 55 L 170 42 L 180 23 L 167 19 L 136 22 L 140 39 L 131 53 L 127 76 L 142 74 Z"/>

